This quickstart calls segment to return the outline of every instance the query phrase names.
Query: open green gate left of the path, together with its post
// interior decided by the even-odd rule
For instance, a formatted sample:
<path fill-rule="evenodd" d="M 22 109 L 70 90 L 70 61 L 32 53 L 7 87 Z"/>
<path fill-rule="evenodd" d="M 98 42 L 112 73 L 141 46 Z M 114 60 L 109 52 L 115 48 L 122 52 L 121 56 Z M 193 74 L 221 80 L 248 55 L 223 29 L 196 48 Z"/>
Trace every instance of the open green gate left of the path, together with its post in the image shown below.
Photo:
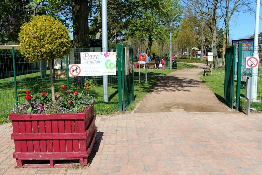
<path fill-rule="evenodd" d="M 133 49 L 117 44 L 118 107 L 119 112 L 135 100 Z M 122 92 L 122 93 L 121 93 Z"/>

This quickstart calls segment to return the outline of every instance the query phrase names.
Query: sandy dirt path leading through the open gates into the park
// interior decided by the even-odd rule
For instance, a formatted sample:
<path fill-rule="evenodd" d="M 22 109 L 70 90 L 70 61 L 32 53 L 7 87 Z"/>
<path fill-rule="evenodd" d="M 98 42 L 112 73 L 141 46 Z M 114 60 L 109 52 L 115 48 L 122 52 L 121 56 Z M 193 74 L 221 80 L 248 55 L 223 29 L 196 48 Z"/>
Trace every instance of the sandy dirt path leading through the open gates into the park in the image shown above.
<path fill-rule="evenodd" d="M 208 67 L 184 68 L 172 72 L 156 83 L 135 113 L 151 112 L 231 112 L 200 80 L 199 72 Z"/>

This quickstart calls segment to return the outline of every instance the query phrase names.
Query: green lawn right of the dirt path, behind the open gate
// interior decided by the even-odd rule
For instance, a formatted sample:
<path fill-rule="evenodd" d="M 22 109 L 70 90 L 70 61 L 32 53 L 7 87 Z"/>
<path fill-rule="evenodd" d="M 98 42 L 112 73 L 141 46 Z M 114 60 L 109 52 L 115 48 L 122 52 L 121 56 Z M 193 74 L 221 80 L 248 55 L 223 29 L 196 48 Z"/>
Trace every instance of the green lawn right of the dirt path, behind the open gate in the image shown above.
<path fill-rule="evenodd" d="M 200 79 L 210 88 L 210 90 L 216 95 L 216 97 L 223 103 L 227 104 L 224 99 L 224 79 L 225 79 L 225 70 L 218 69 L 213 70 L 212 76 L 203 76 L 204 71 L 200 72 L 199 75 L 202 75 Z M 262 100 L 262 76 L 259 77 L 258 82 L 258 100 Z M 234 83 L 234 101 L 236 101 L 236 82 Z M 246 100 L 245 100 L 245 89 L 241 88 L 241 98 L 240 98 L 240 108 L 241 110 L 245 110 L 246 108 Z M 262 102 L 251 102 L 251 108 L 255 108 L 256 110 L 262 110 Z"/>

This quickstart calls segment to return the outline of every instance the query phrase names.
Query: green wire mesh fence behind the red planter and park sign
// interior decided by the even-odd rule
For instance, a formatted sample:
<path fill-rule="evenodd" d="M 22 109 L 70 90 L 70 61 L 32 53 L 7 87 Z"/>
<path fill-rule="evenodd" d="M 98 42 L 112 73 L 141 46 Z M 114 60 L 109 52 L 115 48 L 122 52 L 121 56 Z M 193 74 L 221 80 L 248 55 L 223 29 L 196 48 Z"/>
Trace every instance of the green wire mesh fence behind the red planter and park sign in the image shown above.
<path fill-rule="evenodd" d="M 72 49 L 70 55 L 65 56 L 65 59 L 53 60 L 52 68 L 55 92 L 59 94 L 63 93 L 61 85 L 65 85 L 70 90 L 80 90 L 84 84 L 88 84 L 90 95 L 96 97 L 96 108 L 103 108 L 106 105 L 112 110 L 117 111 L 119 109 L 118 83 L 121 83 L 118 82 L 118 74 L 108 76 L 108 103 L 103 102 L 102 76 L 68 76 L 68 65 L 80 63 L 80 52 L 102 51 L 101 48 Z M 116 48 L 108 48 L 107 51 L 116 52 L 117 50 Z M 130 55 L 133 58 L 133 50 L 130 49 L 130 51 L 132 51 Z M 124 57 L 121 59 L 124 59 Z M 121 60 L 119 63 L 121 67 Z M 120 73 L 122 72 L 120 71 Z M 0 50 L 0 116 L 7 117 L 16 103 L 26 102 L 24 97 L 26 90 L 29 90 L 32 94 L 42 91 L 51 92 L 50 87 L 50 71 L 47 62 L 38 61 L 36 63 L 29 63 L 23 59 L 19 50 Z M 122 92 L 122 89 L 120 92 Z"/>

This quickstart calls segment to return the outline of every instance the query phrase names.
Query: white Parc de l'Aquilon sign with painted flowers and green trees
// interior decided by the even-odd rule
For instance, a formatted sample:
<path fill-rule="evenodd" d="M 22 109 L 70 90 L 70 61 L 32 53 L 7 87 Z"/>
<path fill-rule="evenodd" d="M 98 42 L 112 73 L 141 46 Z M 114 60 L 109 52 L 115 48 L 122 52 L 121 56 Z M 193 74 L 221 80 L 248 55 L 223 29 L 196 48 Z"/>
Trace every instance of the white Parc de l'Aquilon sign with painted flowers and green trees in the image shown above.
<path fill-rule="evenodd" d="M 116 75 L 116 52 L 81 52 L 81 76 Z"/>

